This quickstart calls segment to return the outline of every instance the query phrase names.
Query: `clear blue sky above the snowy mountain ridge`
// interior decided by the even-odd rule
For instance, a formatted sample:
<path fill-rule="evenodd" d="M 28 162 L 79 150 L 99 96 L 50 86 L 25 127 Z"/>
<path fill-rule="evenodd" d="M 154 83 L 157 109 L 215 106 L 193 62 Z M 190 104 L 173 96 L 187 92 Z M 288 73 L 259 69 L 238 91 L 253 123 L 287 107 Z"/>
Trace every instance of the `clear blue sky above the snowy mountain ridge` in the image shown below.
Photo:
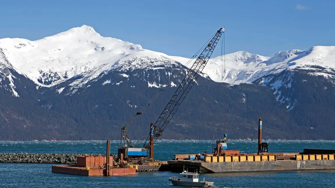
<path fill-rule="evenodd" d="M 273 56 L 335 45 L 334 8 L 333 0 L 3 1 L 0 38 L 37 40 L 85 24 L 144 49 L 192 57 L 224 26 L 226 54 Z"/>

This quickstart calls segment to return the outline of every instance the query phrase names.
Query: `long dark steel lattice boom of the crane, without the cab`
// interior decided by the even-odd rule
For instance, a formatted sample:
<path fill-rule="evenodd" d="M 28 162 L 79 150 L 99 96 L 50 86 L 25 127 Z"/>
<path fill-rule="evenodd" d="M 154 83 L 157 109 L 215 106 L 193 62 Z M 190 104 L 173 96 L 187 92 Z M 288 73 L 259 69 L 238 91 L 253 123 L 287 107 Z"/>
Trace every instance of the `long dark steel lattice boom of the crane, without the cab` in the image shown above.
<path fill-rule="evenodd" d="M 153 130 L 148 135 L 143 148 L 150 149 L 151 144 L 153 144 L 153 142 L 159 136 L 162 135 L 162 132 L 166 128 L 167 124 L 169 124 L 172 117 L 175 115 L 176 111 L 178 110 L 180 104 L 183 102 L 186 95 L 192 88 L 193 84 L 196 82 L 197 78 L 199 77 L 199 74 L 202 72 L 202 70 L 206 66 L 210 56 L 212 55 L 214 51 L 214 48 L 217 42 L 219 41 L 222 33 L 224 32 L 225 32 L 224 28 L 220 28 L 219 30 L 217 30 L 216 33 L 214 34 L 214 37 L 210 40 L 210 42 L 206 45 L 205 49 L 195 60 L 191 69 L 187 72 L 185 78 L 180 83 L 179 87 L 177 88 L 176 92 L 173 94 L 169 103 L 167 103 L 163 112 L 160 114 L 159 118 L 153 125 Z M 153 136 L 151 136 L 150 138 L 150 135 L 153 135 Z"/>

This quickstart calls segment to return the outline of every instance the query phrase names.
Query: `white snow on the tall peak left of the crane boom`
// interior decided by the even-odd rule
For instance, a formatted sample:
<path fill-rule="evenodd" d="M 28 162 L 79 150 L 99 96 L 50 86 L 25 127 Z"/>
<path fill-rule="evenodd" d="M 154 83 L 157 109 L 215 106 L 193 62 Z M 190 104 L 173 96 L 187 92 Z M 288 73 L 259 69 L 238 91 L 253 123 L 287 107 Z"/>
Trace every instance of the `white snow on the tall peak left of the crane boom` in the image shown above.
<path fill-rule="evenodd" d="M 0 39 L 0 48 L 8 52 L 6 57 L 17 72 L 48 87 L 76 76 L 83 78 L 73 84 L 83 84 L 83 80 L 87 82 L 108 70 L 178 64 L 170 60 L 167 65 L 165 54 L 102 37 L 86 25 L 36 41 L 3 38 Z"/>

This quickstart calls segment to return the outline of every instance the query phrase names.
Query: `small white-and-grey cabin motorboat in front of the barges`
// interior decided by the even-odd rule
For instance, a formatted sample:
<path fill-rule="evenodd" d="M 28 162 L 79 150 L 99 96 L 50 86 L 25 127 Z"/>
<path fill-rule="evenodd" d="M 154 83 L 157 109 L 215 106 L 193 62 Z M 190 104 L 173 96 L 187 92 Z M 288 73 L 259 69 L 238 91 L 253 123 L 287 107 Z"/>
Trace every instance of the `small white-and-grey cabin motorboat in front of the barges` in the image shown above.
<path fill-rule="evenodd" d="M 188 172 L 187 170 L 184 170 L 180 174 L 182 175 L 181 177 L 172 176 L 169 178 L 169 181 L 171 181 L 172 184 L 174 185 L 180 185 L 180 186 L 192 186 L 192 187 L 214 186 L 214 182 L 205 181 L 205 178 L 199 181 L 199 174 L 197 172 Z"/>

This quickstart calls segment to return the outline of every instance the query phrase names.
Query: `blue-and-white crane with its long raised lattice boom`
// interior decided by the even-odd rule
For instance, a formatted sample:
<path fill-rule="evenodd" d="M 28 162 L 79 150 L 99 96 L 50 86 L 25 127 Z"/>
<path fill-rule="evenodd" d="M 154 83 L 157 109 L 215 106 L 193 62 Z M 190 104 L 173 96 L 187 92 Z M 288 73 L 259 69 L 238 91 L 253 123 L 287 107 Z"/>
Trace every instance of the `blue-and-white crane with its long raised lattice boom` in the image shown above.
<path fill-rule="evenodd" d="M 153 159 L 153 143 L 155 142 L 155 140 L 157 140 L 158 137 L 162 135 L 167 124 L 169 124 L 172 117 L 177 112 L 179 106 L 185 99 L 193 84 L 196 82 L 204 67 L 206 66 L 217 42 L 219 41 L 220 37 L 224 32 L 224 28 L 220 28 L 219 30 L 217 30 L 214 35 L 202 46 L 202 48 L 192 57 L 190 61 L 192 61 L 193 58 L 197 57 L 198 53 L 204 48 L 201 54 L 193 63 L 191 69 L 187 72 L 185 78 L 178 86 L 170 101 L 167 103 L 166 107 L 163 109 L 162 113 L 159 115 L 157 121 L 154 124 L 151 123 L 150 133 L 147 136 L 143 147 L 121 146 L 119 148 L 118 156 L 121 161 L 143 161 L 144 157 L 149 157 L 149 159 Z"/>

